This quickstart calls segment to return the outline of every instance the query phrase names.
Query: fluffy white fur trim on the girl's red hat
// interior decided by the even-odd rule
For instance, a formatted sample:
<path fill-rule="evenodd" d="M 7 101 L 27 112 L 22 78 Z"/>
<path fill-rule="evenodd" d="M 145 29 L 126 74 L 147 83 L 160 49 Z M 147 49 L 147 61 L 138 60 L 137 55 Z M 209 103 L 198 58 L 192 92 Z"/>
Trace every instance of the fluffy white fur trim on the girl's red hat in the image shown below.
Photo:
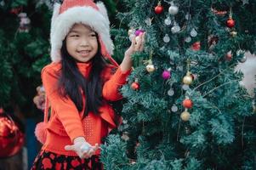
<path fill-rule="evenodd" d="M 76 23 L 82 23 L 90 26 L 99 34 L 105 48 L 109 54 L 113 54 L 113 42 L 110 35 L 110 21 L 108 20 L 106 9 L 103 3 L 97 5 L 100 11 L 95 8 L 72 7 L 60 14 L 60 4 L 54 5 L 54 14 L 52 17 L 52 26 L 50 33 L 51 59 L 54 62 L 60 61 L 60 48 L 65 36 Z"/>

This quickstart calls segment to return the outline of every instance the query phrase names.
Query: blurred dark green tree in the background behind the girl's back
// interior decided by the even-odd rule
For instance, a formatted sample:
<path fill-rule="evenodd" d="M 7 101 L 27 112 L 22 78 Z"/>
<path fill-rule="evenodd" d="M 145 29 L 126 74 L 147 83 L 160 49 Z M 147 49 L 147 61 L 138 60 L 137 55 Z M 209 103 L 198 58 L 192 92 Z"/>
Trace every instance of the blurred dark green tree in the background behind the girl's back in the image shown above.
<path fill-rule="evenodd" d="M 22 116 L 34 115 L 32 99 L 49 62 L 50 17 L 48 7 L 37 1 L 0 3 L 0 105 Z"/>

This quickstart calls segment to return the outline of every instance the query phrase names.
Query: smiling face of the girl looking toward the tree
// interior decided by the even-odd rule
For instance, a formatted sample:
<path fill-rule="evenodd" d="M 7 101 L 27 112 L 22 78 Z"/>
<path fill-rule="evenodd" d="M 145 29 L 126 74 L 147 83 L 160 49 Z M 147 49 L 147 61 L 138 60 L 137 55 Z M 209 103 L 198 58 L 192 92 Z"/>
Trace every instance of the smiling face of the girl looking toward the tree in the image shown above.
<path fill-rule="evenodd" d="M 75 24 L 66 36 L 66 49 L 77 62 L 88 62 L 98 52 L 96 33 L 88 26 Z"/>

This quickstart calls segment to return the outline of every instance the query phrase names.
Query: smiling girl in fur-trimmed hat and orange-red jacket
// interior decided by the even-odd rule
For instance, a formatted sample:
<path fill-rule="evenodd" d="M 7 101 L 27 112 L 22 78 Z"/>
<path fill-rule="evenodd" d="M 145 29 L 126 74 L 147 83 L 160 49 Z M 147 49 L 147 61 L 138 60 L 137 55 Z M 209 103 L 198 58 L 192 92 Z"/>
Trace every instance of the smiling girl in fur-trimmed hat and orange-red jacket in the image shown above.
<path fill-rule="evenodd" d="M 130 73 L 131 55 L 143 50 L 144 44 L 144 34 L 137 42 L 133 39 L 118 66 L 111 58 L 109 24 L 103 3 L 65 0 L 54 6 L 53 63 L 42 71 L 46 140 L 31 169 L 103 168 L 99 144 L 117 126 L 108 101 L 122 99 L 118 90 Z"/>

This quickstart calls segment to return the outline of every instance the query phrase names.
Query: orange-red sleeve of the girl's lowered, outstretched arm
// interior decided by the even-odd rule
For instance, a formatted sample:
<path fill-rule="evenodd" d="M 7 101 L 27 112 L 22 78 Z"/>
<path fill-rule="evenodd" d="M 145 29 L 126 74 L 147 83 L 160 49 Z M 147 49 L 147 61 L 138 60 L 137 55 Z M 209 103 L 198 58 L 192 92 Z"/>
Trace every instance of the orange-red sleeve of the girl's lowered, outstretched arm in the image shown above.
<path fill-rule="evenodd" d="M 51 69 L 50 66 L 44 67 L 41 77 L 52 110 L 57 114 L 71 141 L 79 136 L 84 137 L 82 121 L 76 105 L 70 98 L 62 98 L 58 94 L 59 77 L 54 69 Z"/>

